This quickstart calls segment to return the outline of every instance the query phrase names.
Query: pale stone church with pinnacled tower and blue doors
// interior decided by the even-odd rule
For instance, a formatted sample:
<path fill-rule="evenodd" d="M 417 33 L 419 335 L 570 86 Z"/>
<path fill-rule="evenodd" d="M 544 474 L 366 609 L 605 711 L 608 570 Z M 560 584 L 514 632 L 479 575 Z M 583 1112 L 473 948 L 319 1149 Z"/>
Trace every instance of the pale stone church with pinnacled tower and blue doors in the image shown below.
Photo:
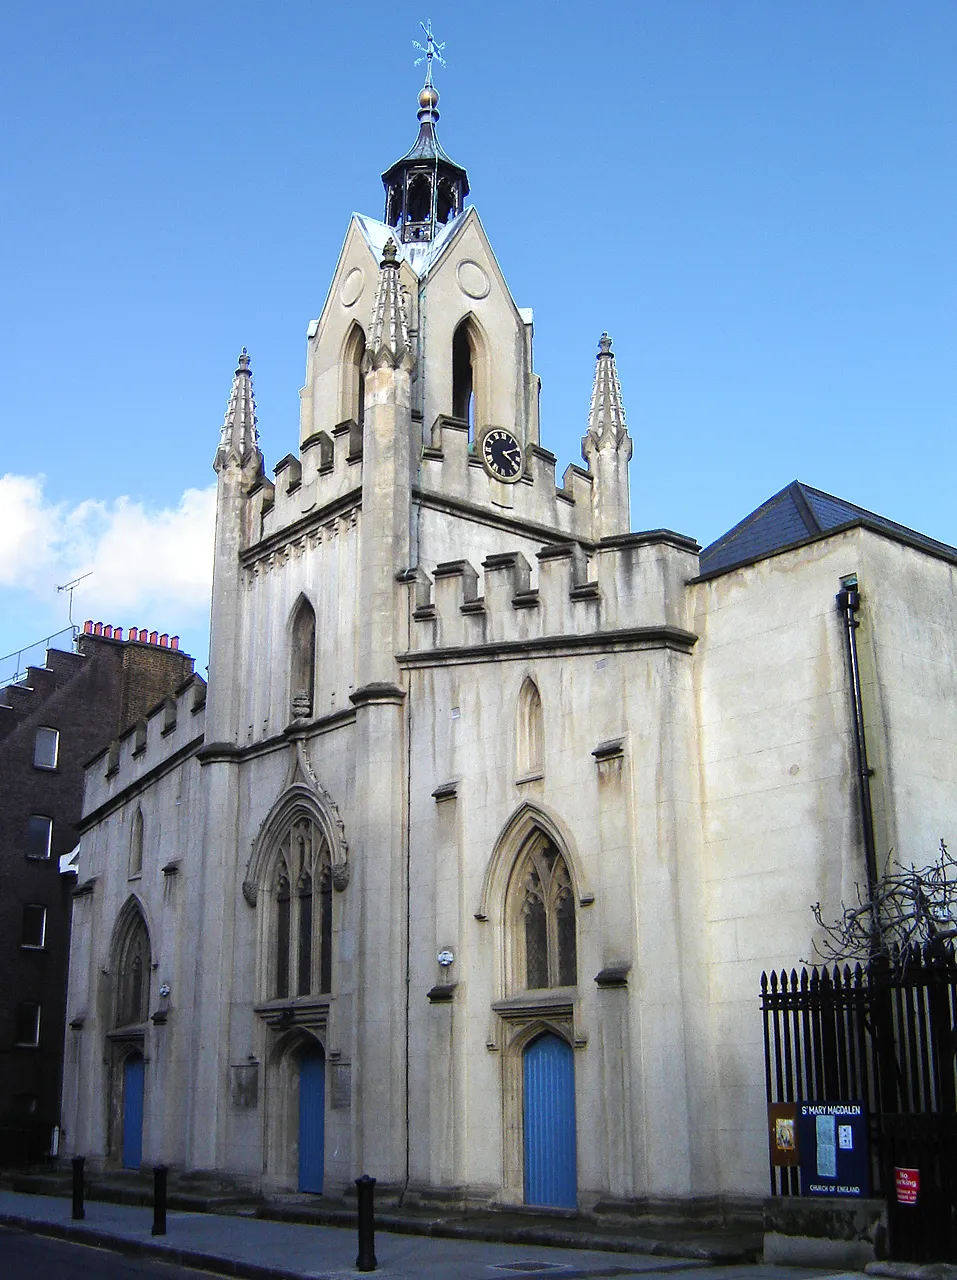
<path fill-rule="evenodd" d="M 438 116 L 429 81 L 274 481 L 239 358 L 209 687 L 88 768 L 65 1148 L 411 1201 L 763 1194 L 761 970 L 869 858 L 953 835 L 957 552 L 801 484 L 705 552 L 632 532 L 605 335 L 558 481 Z"/>

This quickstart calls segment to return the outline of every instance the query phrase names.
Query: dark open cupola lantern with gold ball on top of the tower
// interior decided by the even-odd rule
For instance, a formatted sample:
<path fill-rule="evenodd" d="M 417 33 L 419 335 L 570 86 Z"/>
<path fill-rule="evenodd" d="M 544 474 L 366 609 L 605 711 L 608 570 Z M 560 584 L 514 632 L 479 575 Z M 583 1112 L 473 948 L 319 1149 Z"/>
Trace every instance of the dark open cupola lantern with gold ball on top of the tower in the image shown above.
<path fill-rule="evenodd" d="M 418 95 L 418 137 L 411 151 L 383 174 L 385 221 L 404 243 L 431 241 L 450 223 L 468 195 L 468 175 L 435 136 L 439 93 L 426 81 Z"/>

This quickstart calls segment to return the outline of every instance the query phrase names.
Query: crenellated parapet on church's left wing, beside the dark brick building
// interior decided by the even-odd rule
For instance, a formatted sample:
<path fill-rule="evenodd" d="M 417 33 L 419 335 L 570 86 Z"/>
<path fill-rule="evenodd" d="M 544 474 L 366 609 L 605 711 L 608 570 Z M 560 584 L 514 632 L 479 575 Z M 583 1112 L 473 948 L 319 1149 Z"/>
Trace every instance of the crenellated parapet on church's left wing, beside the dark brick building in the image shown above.
<path fill-rule="evenodd" d="M 202 737 L 206 681 L 192 675 L 86 764 L 84 814 Z"/>

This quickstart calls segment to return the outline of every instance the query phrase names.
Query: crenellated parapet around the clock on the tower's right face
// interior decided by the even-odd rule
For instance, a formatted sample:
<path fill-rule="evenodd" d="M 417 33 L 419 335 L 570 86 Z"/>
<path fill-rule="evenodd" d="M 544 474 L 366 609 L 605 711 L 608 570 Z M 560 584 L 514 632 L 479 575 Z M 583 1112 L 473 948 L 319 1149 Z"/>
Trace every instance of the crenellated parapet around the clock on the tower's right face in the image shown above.
<path fill-rule="evenodd" d="M 468 439 L 468 422 L 462 419 L 445 413 L 436 417 L 430 443 L 422 449 L 421 488 L 426 495 L 458 498 L 473 507 L 504 507 L 516 520 L 591 541 L 595 484 L 591 471 L 571 463 L 559 488 L 555 454 L 539 444 L 528 444 L 525 474 L 517 484 L 490 481 Z"/>

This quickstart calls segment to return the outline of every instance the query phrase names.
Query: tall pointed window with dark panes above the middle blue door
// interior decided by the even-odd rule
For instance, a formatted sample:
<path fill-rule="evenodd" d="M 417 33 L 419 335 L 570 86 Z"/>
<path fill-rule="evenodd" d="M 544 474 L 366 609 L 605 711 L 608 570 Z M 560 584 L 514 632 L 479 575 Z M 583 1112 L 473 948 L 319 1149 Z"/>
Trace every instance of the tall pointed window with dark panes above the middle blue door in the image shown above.
<path fill-rule="evenodd" d="M 331 858 L 311 818 L 297 818 L 280 842 L 271 911 L 267 998 L 328 995 L 333 977 Z"/>

